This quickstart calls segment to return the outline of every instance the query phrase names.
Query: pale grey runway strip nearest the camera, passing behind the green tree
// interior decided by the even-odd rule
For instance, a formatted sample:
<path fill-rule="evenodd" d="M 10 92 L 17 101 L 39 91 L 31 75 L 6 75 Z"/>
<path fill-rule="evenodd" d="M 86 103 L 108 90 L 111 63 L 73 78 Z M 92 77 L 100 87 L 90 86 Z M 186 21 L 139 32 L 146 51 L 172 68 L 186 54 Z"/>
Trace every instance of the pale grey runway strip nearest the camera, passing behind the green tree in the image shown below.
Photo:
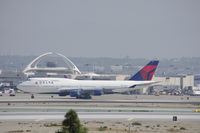
<path fill-rule="evenodd" d="M 65 112 L 0 112 L 2 121 L 48 121 L 63 120 Z M 199 113 L 169 113 L 169 112 L 78 112 L 81 120 L 200 120 Z"/>

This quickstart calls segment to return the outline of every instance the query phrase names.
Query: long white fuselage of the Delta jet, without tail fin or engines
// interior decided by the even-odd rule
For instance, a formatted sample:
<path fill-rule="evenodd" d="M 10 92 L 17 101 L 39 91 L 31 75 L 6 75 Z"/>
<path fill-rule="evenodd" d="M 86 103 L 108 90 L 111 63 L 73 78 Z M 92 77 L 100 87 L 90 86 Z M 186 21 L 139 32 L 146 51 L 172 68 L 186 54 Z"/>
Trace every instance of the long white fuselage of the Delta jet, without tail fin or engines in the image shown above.
<path fill-rule="evenodd" d="M 31 78 L 17 87 L 25 92 L 44 93 L 70 90 L 122 89 L 150 85 L 154 81 L 74 80 L 65 78 Z"/>

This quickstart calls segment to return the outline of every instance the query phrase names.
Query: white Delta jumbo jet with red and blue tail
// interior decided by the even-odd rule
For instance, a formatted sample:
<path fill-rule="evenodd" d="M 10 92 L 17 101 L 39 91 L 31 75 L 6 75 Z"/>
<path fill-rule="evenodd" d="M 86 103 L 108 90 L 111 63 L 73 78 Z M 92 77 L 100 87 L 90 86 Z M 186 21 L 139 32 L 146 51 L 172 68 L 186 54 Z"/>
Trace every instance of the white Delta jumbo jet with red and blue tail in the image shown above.
<path fill-rule="evenodd" d="M 48 93 L 59 94 L 60 96 L 74 96 L 80 98 L 80 95 L 91 91 L 130 89 L 136 86 L 148 86 L 156 83 L 152 77 L 158 66 L 159 61 L 150 61 L 139 72 L 133 75 L 129 80 L 76 80 L 66 78 L 30 78 L 28 81 L 18 85 L 18 89 L 30 93 Z"/>

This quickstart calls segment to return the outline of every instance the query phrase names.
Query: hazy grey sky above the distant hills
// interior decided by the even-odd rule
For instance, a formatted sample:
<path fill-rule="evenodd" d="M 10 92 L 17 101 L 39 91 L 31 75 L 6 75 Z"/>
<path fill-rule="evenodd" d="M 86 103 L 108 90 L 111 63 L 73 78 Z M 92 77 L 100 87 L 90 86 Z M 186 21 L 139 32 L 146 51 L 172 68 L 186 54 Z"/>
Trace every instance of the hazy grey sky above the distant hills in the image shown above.
<path fill-rule="evenodd" d="M 0 0 L 0 55 L 200 56 L 200 0 Z"/>

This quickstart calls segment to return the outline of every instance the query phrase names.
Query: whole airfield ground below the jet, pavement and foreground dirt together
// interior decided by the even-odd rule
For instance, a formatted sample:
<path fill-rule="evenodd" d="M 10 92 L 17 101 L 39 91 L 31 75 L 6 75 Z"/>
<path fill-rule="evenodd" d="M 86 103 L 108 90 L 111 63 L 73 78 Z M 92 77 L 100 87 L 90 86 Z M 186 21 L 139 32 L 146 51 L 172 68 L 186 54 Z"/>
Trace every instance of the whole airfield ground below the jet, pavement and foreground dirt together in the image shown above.
<path fill-rule="evenodd" d="M 36 95 L 34 99 L 28 94 L 4 95 L 0 97 L 0 130 L 55 133 L 61 127 L 45 125 L 62 123 L 65 113 L 74 109 L 91 133 L 102 132 L 98 129 L 103 126 L 113 133 L 127 132 L 133 121 L 142 124 L 138 130 L 144 133 L 168 133 L 171 128 L 181 131 L 181 127 L 186 132 L 198 133 L 200 113 L 194 110 L 199 103 L 200 97 L 188 96 L 102 95 L 79 100 L 56 95 Z M 172 122 L 173 116 L 177 116 L 177 122 Z"/>

